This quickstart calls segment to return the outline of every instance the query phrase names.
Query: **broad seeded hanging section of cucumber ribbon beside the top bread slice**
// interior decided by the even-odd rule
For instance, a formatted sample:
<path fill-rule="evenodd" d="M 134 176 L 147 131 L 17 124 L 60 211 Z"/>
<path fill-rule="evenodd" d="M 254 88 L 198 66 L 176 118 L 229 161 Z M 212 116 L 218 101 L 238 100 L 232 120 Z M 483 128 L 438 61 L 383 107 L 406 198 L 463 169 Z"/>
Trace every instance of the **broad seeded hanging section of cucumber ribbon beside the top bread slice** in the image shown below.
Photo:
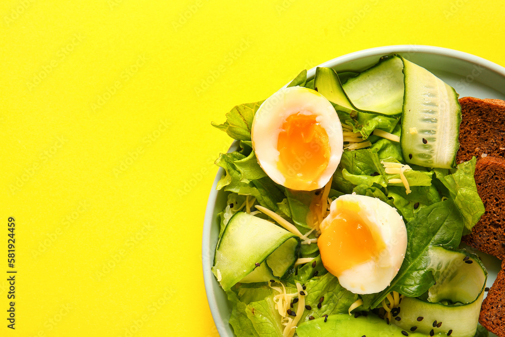
<path fill-rule="evenodd" d="M 424 167 L 452 168 L 460 147 L 458 93 L 417 64 L 403 59 L 403 67 L 405 97 L 400 136 L 403 158 Z"/>

